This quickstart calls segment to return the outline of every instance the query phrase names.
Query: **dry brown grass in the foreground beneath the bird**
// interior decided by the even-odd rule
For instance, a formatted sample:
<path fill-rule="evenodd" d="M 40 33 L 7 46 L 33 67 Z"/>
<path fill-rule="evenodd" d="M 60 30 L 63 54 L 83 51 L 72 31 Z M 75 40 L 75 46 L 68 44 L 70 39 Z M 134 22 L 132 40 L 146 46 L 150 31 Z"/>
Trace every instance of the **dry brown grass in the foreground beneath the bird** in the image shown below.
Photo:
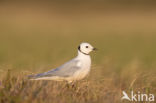
<path fill-rule="evenodd" d="M 17 76 L 8 71 L 0 80 L 0 103 L 120 103 L 122 90 L 155 93 L 155 73 L 142 72 L 139 67 L 134 67 L 136 64 L 131 66 L 121 71 L 121 74 L 106 74 L 108 71 L 101 71 L 103 67 L 94 68 L 96 70 L 93 69 L 89 77 L 73 85 L 66 82 L 31 81 L 26 78 L 28 73 L 17 73 Z"/>

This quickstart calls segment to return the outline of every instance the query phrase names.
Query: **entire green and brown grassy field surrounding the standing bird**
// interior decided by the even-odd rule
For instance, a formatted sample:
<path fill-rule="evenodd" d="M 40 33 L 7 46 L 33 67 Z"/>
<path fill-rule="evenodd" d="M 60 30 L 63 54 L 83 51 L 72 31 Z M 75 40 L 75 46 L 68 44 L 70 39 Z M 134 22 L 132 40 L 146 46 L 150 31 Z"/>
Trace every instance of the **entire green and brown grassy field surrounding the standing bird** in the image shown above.
<path fill-rule="evenodd" d="M 130 103 L 121 97 L 132 90 L 156 96 L 156 9 L 98 5 L 1 2 L 0 103 Z M 27 78 L 75 57 L 81 42 L 99 49 L 84 80 Z"/>

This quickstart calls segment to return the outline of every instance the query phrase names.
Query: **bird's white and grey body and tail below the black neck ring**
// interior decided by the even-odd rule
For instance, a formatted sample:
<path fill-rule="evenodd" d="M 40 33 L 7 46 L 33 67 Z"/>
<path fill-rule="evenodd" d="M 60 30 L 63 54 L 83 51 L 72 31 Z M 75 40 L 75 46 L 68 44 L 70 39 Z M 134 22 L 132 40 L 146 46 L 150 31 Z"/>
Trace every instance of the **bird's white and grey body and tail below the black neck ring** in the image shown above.
<path fill-rule="evenodd" d="M 80 54 L 62 66 L 48 72 L 33 76 L 34 80 L 67 80 L 83 79 L 90 71 L 91 58 L 89 55 Z"/>

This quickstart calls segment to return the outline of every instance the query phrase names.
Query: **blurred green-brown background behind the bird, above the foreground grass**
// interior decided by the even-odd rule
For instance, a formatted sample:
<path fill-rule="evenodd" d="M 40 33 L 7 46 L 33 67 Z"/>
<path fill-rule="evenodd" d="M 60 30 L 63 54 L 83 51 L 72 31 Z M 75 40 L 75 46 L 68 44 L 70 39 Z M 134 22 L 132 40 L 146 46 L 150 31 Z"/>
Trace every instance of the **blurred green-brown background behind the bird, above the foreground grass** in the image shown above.
<path fill-rule="evenodd" d="M 155 72 L 156 2 L 0 1 L 0 73 L 55 68 L 77 55 L 81 42 L 99 49 L 91 56 L 100 76 Z"/>

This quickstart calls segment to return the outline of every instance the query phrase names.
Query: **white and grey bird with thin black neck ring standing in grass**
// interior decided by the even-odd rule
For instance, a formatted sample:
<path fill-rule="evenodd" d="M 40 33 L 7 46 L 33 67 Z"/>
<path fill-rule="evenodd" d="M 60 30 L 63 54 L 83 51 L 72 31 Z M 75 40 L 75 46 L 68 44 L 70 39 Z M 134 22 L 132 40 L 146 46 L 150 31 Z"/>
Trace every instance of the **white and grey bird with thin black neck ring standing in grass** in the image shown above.
<path fill-rule="evenodd" d="M 78 46 L 78 54 L 72 60 L 48 72 L 30 76 L 30 80 L 54 80 L 71 83 L 84 79 L 91 69 L 90 52 L 97 50 L 91 44 L 82 42 Z"/>

